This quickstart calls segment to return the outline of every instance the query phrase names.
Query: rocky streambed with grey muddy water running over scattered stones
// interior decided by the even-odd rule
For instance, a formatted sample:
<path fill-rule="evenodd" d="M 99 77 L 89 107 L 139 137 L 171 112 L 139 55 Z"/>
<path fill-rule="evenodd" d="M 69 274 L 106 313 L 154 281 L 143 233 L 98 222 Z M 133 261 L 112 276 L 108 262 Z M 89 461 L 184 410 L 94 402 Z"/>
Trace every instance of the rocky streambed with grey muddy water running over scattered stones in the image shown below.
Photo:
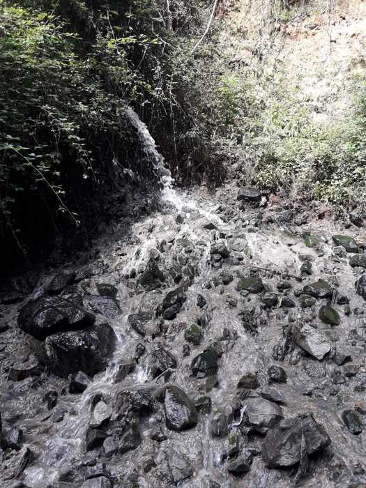
<path fill-rule="evenodd" d="M 1 487 L 366 486 L 361 228 L 263 198 L 136 197 L 3 282 Z"/>

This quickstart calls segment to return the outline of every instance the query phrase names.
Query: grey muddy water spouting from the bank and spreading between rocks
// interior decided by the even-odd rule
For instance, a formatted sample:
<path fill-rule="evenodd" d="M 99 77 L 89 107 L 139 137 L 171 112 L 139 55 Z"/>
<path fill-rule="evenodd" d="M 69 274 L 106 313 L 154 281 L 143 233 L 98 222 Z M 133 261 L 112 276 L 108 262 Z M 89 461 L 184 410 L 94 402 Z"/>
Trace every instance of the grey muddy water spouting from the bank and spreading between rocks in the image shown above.
<path fill-rule="evenodd" d="M 243 225 L 243 220 L 233 223 L 226 218 L 220 202 L 203 196 L 193 198 L 174 190 L 174 181 L 165 170 L 164 160 L 159 155 L 155 142 L 136 117 L 134 113 L 130 114 L 146 148 L 146 155 L 153 160 L 158 174 L 162 176 L 160 207 L 158 211 L 133 224 L 128 239 L 110 235 L 100 238 L 99 261 L 104 264 L 105 272 L 78 285 L 84 293 L 95 292 L 96 283 L 111 283 L 119 290 L 117 298 L 123 312 L 109 321 L 118 337 L 118 345 L 107 370 L 96 375 L 82 395 L 68 394 L 66 380 L 56 379 L 55 376 L 45 379 L 41 392 L 52 388 L 66 388 L 59 397 L 58 406 L 63 406 L 66 411 L 60 422 L 54 422 L 52 417 L 47 418 L 45 411 L 37 408 L 41 395 L 39 391 L 32 390 L 29 383 L 3 395 L 3 415 L 6 412 L 5 417 L 9 418 L 10 412 L 13 412 L 16 425 L 26 434 L 26 443 L 36 452 L 36 459 L 24 472 L 24 485 L 31 488 L 81 486 L 75 480 L 70 480 L 69 484 L 60 484 L 59 477 L 72 468 L 77 470 L 77 466 L 85 464 L 88 459 L 98 459 L 98 462 L 107 464 L 114 480 L 113 486 L 174 486 L 162 477 L 159 459 L 162 452 L 177 450 L 188 458 L 193 470 L 190 478 L 179 483 L 182 487 L 291 487 L 295 468 L 268 469 L 264 465 L 260 455 L 263 435 L 249 431 L 246 436 L 243 435 L 244 443 L 259 445 L 259 455 L 254 456 L 248 473 L 234 477 L 227 471 L 224 459 L 227 438 L 218 439 L 211 434 L 211 420 L 217 411 L 226 412 L 230 418 L 236 385 L 241 376 L 246 372 L 257 372 L 260 385 L 266 386 L 268 367 L 280 365 L 284 367 L 288 377 L 286 383 L 278 385 L 285 399 L 285 405 L 281 407 L 284 417 L 311 412 L 314 419 L 325 427 L 332 441 L 326 453 L 310 459 L 309 472 L 300 481 L 300 485 L 326 488 L 366 486 L 365 433 L 358 436 L 351 434 L 341 418 L 342 411 L 353 409 L 356 404 L 363 404 L 366 409 L 365 392 L 355 391 L 356 382 L 360 381 L 365 372 L 365 343 L 362 339 L 352 340 L 349 337 L 350 330 L 355 328 L 363 337 L 363 315 L 346 316 L 345 306 L 335 305 L 342 320 L 340 326 L 334 328 L 321 323 L 317 318 L 319 307 L 326 300 L 318 300 L 316 305 L 306 310 L 298 306 L 268 310 L 254 294 L 239 294 L 236 290 L 238 279 L 243 276 L 259 276 L 266 288 L 273 291 L 277 291 L 280 280 L 287 280 L 293 287 L 288 294 L 298 303 L 294 290 L 316 281 L 319 277 L 328 280 L 336 277 L 338 293 L 349 296 L 351 310 L 358 308 L 363 312 L 364 303 L 355 293 L 356 275 L 348 264 L 348 258 L 335 256 L 330 243 L 324 243 L 321 250 L 317 251 L 307 248 L 303 238 L 289 235 L 284 229 L 248 230 Z M 218 242 L 227 246 L 230 257 L 215 264 L 211 246 Z M 314 261 L 311 276 L 301 277 L 300 254 L 312 255 Z M 137 279 L 151 256 L 155 257 L 167 280 L 163 287 L 146 291 L 138 286 Z M 146 335 L 142 338 L 130 327 L 128 316 L 137 312 L 150 312 L 155 316 L 155 311 L 167 291 L 177 286 L 168 277 L 168 270 L 177 264 L 182 268 L 189 268 L 189 275 L 183 273 L 179 284 L 186 294 L 181 312 L 176 319 L 165 321 L 163 334 L 157 337 Z M 222 272 L 230 273 L 234 280 L 229 284 L 222 284 Z M 207 303 L 203 309 L 197 306 L 199 294 L 204 296 Z M 248 307 L 254 307 L 257 311 L 257 330 L 254 331 L 243 327 L 241 312 Z M 197 320 L 204 323 L 203 340 L 199 346 L 191 344 L 190 352 L 183 354 L 187 346 L 184 338 L 185 327 L 187 324 L 197 323 Z M 293 364 L 293 353 L 289 353 L 283 361 L 274 360 L 273 347 L 284 341 L 282 329 L 297 321 L 317 324 L 317 328 L 330 337 L 334 346 L 342 346 L 350 351 L 353 363 L 359 365 L 358 375 L 344 377 L 344 382 L 338 384 L 332 378 L 334 369 L 339 368 L 331 360 L 319 362 L 305 353 L 302 353 L 296 364 Z M 134 371 L 123 381 L 117 382 L 118 365 L 121 361 L 133 358 L 139 343 L 143 343 L 146 348 L 144 355 Z M 192 358 L 206 346 L 215 343 L 220 344 L 222 356 L 219 360 L 218 385 L 208 392 L 213 406 L 212 413 L 199 415 L 196 427 L 185 432 L 167 431 L 163 418 L 160 418 L 161 409 L 158 408 L 154 415 L 139 420 L 142 443 L 136 450 L 112 459 L 103 457 L 102 452 L 85 452 L 85 432 L 96 395 L 113 404 L 116 392 L 121 390 L 148 388 L 152 392 L 158 392 L 165 379 L 159 376 L 153 378 L 148 361 L 151 350 L 158 344 L 162 344 L 177 358 L 177 367 L 171 370 L 167 381 L 181 387 L 192 399 L 206 395 L 206 379 L 192 376 L 190 364 Z M 231 418 L 230 422 L 231 432 L 237 432 L 240 419 Z M 167 435 L 167 439 L 160 443 L 149 437 L 151 430 L 157 425 Z M 142 468 L 146 457 L 151 457 L 155 464 L 147 472 Z M 130 473 L 135 473 L 135 485 L 128 485 L 125 481 Z M 213 485 L 213 482 L 218 485 Z M 13 483 L 10 480 L 4 481 L 2 486 L 15 486 Z"/>

